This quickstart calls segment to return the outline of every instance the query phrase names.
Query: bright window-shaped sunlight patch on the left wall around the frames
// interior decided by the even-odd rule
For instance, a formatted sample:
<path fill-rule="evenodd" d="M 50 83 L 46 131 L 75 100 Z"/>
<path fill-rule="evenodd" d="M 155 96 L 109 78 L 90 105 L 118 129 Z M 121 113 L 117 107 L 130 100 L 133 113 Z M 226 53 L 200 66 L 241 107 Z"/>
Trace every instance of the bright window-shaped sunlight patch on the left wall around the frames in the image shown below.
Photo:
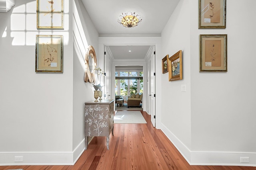
<path fill-rule="evenodd" d="M 69 43 L 69 1 L 64 1 L 64 30 L 36 29 L 36 0 L 16 6 L 10 18 L 10 30 L 2 37 L 12 37 L 12 45 L 36 45 L 36 35 L 63 35 L 64 45 Z"/>

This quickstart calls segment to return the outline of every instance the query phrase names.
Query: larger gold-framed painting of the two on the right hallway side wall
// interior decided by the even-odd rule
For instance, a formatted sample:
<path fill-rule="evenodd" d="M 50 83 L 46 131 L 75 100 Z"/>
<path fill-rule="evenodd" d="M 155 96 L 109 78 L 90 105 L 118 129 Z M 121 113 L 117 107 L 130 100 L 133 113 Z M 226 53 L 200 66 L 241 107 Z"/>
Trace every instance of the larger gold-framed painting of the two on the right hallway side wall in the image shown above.
<path fill-rule="evenodd" d="M 178 51 L 168 60 L 169 81 L 182 80 L 182 51 Z"/>

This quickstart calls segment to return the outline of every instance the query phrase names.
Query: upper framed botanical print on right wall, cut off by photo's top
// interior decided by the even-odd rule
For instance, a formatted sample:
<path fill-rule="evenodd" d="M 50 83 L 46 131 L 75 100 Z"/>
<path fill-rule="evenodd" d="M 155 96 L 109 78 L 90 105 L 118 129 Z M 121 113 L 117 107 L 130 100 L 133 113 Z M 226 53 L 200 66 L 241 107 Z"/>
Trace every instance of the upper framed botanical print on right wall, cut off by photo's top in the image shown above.
<path fill-rule="evenodd" d="M 198 28 L 226 28 L 226 0 L 199 0 Z"/>

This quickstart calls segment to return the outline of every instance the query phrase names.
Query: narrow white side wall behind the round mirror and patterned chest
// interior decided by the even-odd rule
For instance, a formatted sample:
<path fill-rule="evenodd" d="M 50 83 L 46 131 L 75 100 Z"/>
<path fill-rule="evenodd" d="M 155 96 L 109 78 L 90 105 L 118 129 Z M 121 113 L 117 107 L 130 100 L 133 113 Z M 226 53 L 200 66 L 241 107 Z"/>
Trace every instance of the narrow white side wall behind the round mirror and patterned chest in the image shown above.
<path fill-rule="evenodd" d="M 92 45 L 98 58 L 98 32 L 84 5 L 74 0 L 73 151 L 74 162 L 84 151 L 84 102 L 94 100 L 93 86 L 84 82 L 85 55 Z"/>

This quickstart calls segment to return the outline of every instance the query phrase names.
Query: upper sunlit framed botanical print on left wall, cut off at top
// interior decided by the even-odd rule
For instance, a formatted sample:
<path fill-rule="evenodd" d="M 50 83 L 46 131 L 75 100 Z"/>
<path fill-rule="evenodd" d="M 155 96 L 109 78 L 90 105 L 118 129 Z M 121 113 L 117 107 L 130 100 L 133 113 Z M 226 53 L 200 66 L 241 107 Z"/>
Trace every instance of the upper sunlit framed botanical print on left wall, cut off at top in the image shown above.
<path fill-rule="evenodd" d="M 64 29 L 63 0 L 36 0 L 36 28 Z"/>

